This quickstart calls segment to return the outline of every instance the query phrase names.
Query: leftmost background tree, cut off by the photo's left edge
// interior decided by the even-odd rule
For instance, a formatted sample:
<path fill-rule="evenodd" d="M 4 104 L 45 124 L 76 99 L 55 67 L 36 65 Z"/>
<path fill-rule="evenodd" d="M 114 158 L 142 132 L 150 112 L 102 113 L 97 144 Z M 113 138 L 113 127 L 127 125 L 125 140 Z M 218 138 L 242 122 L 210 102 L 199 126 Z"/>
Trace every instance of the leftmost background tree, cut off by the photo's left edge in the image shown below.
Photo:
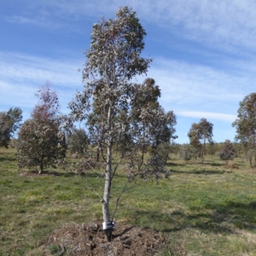
<path fill-rule="evenodd" d="M 10 108 L 7 112 L 0 112 L 0 147 L 8 147 L 11 138 L 20 127 L 21 120 L 20 108 Z"/>

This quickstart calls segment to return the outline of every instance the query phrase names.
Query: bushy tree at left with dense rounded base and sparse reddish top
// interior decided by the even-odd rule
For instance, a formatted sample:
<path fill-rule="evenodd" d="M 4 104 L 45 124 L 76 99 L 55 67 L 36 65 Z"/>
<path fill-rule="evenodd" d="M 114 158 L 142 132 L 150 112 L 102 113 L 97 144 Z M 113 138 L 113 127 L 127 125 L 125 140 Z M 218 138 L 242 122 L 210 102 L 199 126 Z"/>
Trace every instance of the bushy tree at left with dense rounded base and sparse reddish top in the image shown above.
<path fill-rule="evenodd" d="M 57 93 L 46 83 L 36 96 L 39 102 L 18 134 L 18 165 L 20 168 L 33 166 L 42 173 L 45 167 L 55 166 L 64 159 L 67 145 L 57 116 L 60 109 Z"/>

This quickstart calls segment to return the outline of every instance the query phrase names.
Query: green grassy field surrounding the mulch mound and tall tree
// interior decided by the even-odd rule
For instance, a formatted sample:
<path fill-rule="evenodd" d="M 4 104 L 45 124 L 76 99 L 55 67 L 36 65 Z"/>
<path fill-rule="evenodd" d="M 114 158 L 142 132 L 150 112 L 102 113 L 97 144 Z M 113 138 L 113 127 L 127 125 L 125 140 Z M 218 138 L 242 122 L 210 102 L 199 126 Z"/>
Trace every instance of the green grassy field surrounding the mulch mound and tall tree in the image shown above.
<path fill-rule="evenodd" d="M 53 230 L 101 220 L 99 198 L 84 175 L 61 169 L 26 175 L 16 163 L 15 149 L 0 148 L 0 255 L 56 255 L 54 244 L 44 246 Z M 203 166 L 173 156 L 170 179 L 140 182 L 124 193 L 116 223 L 162 232 L 167 243 L 160 255 L 256 255 L 256 170 L 239 158 L 233 163 L 239 169 L 216 156 Z M 100 194 L 103 182 L 90 177 Z M 124 182 L 120 170 L 113 203 Z"/>

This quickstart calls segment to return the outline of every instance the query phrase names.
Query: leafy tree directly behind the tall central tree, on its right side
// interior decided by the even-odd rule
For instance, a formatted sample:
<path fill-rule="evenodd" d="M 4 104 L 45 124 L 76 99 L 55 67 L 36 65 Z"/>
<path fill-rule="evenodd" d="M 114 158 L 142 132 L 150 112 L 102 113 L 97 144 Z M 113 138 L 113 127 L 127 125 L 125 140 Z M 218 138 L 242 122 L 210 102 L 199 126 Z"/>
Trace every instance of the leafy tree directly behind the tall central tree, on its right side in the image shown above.
<path fill-rule="evenodd" d="M 131 161 L 133 167 L 140 173 L 141 177 L 146 177 L 150 172 L 147 170 L 154 170 L 157 172 L 152 175 L 158 179 L 161 174 L 166 176 L 166 170 L 164 170 L 164 164 L 168 160 L 168 156 L 171 151 L 171 143 L 177 138 L 174 135 L 176 124 L 176 116 L 173 111 L 165 113 L 164 109 L 159 108 L 136 108 L 140 112 L 140 116 L 134 119 L 132 115 L 132 131 L 136 143 L 133 147 Z M 150 159 L 145 161 L 145 154 L 150 154 Z M 160 164 L 163 163 L 163 164 Z M 156 164 L 154 168 L 148 169 L 148 166 Z M 159 176 L 160 175 L 160 176 Z"/>

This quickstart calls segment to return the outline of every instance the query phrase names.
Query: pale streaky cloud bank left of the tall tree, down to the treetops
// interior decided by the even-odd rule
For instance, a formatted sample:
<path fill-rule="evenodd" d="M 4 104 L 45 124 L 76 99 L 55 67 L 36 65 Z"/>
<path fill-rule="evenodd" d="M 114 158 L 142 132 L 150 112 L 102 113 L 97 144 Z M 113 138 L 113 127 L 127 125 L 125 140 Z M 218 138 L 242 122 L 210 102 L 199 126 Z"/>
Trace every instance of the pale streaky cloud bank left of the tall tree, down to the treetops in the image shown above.
<path fill-rule="evenodd" d="M 35 92 L 51 81 L 60 98 L 63 113 L 76 90 L 82 90 L 79 61 L 55 60 L 13 52 L 0 52 L 0 111 L 10 107 L 24 110 L 24 118 L 35 106 Z"/>

